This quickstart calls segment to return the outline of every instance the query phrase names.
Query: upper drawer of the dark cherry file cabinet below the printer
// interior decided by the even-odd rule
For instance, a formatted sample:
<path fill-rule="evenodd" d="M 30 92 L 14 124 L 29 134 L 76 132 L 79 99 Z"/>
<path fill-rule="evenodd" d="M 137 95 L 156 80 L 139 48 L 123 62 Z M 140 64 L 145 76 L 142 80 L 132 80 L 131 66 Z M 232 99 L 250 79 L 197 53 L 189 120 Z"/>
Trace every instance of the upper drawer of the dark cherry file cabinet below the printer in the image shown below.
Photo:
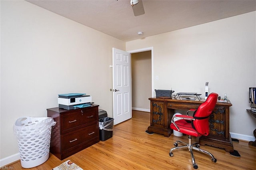
<path fill-rule="evenodd" d="M 79 109 L 70 113 L 61 115 L 61 133 L 68 132 L 86 123 L 92 123 L 97 120 L 97 108 Z"/>

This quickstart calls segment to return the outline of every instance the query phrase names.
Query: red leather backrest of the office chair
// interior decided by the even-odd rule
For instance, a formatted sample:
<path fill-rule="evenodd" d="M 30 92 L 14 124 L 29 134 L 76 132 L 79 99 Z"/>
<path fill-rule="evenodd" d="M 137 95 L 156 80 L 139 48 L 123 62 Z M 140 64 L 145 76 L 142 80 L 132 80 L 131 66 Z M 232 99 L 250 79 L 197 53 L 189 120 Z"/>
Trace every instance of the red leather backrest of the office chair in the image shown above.
<path fill-rule="evenodd" d="M 217 93 L 211 93 L 206 101 L 202 103 L 196 112 L 194 113 L 193 117 L 195 121 L 192 121 L 192 126 L 196 129 L 199 134 L 207 136 L 209 134 L 209 116 L 214 109 L 216 102 L 218 99 Z"/>

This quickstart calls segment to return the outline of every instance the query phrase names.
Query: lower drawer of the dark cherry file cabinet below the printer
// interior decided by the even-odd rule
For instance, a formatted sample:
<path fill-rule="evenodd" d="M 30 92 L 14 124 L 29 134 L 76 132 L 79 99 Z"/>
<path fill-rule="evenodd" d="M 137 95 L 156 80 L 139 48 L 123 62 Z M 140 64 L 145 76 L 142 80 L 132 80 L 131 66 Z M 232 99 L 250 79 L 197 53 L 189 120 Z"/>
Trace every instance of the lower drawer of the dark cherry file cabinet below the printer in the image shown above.
<path fill-rule="evenodd" d="M 62 150 L 67 150 L 76 147 L 92 138 L 98 136 L 98 124 L 90 125 L 85 128 L 80 128 L 74 132 L 68 132 L 62 135 Z"/>

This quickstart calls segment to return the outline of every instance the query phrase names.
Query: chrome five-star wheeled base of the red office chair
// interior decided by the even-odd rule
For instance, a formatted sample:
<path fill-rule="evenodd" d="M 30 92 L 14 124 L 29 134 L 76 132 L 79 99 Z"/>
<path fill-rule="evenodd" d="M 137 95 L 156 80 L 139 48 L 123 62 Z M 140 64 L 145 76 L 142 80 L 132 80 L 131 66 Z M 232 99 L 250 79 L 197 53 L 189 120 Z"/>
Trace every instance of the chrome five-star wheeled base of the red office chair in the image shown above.
<path fill-rule="evenodd" d="M 172 151 L 175 150 L 175 149 L 188 148 L 188 150 L 190 151 L 190 154 L 191 154 L 192 164 L 193 164 L 193 167 L 194 167 L 195 169 L 197 169 L 198 166 L 197 166 L 197 164 L 196 164 L 196 162 L 195 162 L 194 154 L 193 154 L 193 152 L 192 152 L 193 149 L 194 149 L 194 150 L 198 150 L 198 151 L 200 151 L 200 152 L 203 152 L 203 153 L 205 153 L 205 154 L 210 155 L 210 156 L 212 157 L 212 161 L 213 161 L 213 162 L 217 162 L 217 159 L 214 158 L 214 156 L 213 156 L 210 152 L 207 152 L 206 150 L 200 149 L 200 145 L 199 145 L 198 143 L 191 144 L 191 139 L 192 139 L 191 136 L 188 136 L 188 143 L 185 143 L 185 142 L 182 142 L 182 141 L 180 141 L 180 140 L 177 140 L 177 141 L 174 143 L 174 146 L 175 146 L 175 147 L 170 149 L 170 156 L 174 156 L 173 153 L 172 153 Z M 178 142 L 184 144 L 184 146 L 178 146 Z"/>

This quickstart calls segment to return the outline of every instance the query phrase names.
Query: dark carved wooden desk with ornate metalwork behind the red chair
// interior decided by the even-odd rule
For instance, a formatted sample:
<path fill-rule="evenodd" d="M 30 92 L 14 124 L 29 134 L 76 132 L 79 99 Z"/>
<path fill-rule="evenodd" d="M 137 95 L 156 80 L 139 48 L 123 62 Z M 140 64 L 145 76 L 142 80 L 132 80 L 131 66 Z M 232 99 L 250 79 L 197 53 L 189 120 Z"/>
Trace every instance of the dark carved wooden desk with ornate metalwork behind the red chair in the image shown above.
<path fill-rule="evenodd" d="M 155 132 L 169 137 L 173 130 L 170 129 L 171 119 L 175 109 L 197 109 L 205 100 L 188 101 L 182 99 L 162 99 L 159 97 L 149 98 L 150 100 L 150 126 L 148 132 Z M 229 133 L 229 107 L 228 103 L 216 103 L 212 115 L 210 115 L 210 134 L 199 138 L 200 145 L 209 145 L 225 149 L 226 152 L 233 152 L 232 139 Z"/>

